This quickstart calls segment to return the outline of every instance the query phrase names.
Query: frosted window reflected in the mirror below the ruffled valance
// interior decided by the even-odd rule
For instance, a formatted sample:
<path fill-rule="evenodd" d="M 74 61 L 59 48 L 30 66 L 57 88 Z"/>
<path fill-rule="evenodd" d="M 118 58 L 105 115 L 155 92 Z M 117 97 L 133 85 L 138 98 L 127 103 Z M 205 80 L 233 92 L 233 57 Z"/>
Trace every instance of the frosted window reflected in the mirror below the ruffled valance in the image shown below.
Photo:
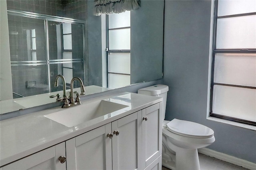
<path fill-rule="evenodd" d="M 130 85 L 130 11 L 107 15 L 107 84 Z"/>

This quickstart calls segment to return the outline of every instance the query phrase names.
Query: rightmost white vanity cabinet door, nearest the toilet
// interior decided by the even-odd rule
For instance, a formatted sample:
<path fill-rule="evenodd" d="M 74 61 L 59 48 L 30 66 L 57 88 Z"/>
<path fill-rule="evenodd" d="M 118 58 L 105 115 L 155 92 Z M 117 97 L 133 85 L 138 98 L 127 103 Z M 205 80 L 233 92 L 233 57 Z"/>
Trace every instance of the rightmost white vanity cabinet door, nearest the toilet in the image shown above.
<path fill-rule="evenodd" d="M 160 104 L 142 110 L 142 154 L 144 168 L 162 154 L 162 122 Z"/>

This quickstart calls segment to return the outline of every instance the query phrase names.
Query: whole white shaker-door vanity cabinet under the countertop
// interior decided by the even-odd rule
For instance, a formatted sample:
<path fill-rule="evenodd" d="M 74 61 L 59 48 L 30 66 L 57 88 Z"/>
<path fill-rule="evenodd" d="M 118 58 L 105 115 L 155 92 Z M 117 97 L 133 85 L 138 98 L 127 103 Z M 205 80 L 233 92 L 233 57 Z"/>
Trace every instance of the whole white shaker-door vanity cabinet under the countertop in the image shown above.
<path fill-rule="evenodd" d="M 7 162 L 0 170 L 160 170 L 162 102 L 158 102 L 152 105 L 145 102 L 146 106 L 140 107 L 142 110 L 135 107 L 135 113 L 128 115 L 124 112 L 124 117 L 106 119 L 106 124 L 77 133 L 78 136 L 70 133 L 65 141 L 59 140 L 54 146 Z M 70 131 L 70 128 L 66 129 Z M 66 156 L 66 161 L 61 163 L 60 156 Z"/>

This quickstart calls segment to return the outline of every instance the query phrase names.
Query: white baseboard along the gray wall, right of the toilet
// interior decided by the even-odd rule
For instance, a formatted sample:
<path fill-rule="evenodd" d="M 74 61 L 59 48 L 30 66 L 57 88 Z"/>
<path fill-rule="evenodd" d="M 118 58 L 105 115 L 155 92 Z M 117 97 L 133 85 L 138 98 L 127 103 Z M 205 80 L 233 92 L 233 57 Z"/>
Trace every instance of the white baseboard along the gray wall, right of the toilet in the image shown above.
<path fill-rule="evenodd" d="M 219 160 L 223 160 L 225 162 L 229 162 L 231 164 L 242 166 L 242 167 L 250 169 L 250 170 L 256 170 L 256 164 L 253 163 L 253 162 L 249 162 L 249 161 L 244 160 L 244 159 L 236 158 L 236 157 L 230 156 L 228 154 L 217 152 L 217 151 L 212 150 L 212 149 L 200 148 L 200 149 L 198 149 L 198 152 L 201 153 L 201 154 L 207 155 L 207 156 L 214 157 L 214 158 L 219 159 Z"/>

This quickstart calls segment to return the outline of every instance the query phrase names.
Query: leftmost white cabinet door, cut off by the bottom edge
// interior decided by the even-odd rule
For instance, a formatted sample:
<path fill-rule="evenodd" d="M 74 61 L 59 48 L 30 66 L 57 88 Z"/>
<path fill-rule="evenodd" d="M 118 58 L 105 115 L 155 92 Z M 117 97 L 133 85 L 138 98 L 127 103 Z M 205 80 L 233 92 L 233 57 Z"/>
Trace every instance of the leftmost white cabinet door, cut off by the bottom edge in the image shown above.
<path fill-rule="evenodd" d="M 2 170 L 66 170 L 66 162 L 58 160 L 60 156 L 66 156 L 65 142 L 6 165 Z"/>

